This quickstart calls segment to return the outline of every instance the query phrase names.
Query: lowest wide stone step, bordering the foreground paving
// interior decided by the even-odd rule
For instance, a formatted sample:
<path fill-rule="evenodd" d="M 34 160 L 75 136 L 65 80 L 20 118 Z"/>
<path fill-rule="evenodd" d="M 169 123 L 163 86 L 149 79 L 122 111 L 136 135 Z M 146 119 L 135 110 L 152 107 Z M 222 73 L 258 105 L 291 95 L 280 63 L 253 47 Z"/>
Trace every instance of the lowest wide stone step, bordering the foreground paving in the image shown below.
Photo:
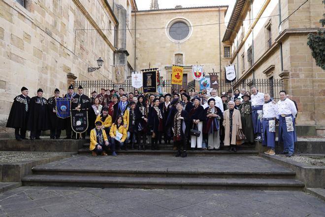
<path fill-rule="evenodd" d="M 130 187 L 171 189 L 262 189 L 302 190 L 304 184 L 292 179 L 206 179 L 157 177 L 108 177 L 30 175 L 22 179 L 29 186 Z"/>

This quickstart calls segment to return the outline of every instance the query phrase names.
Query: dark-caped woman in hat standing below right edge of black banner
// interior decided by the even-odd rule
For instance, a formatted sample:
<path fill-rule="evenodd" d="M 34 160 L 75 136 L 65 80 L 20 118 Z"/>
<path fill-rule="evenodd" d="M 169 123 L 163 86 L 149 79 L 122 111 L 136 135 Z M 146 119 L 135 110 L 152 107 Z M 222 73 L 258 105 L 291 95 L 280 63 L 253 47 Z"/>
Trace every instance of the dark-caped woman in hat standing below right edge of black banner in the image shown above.
<path fill-rule="evenodd" d="M 162 109 L 159 108 L 159 99 L 154 99 L 153 103 L 154 105 L 153 107 L 150 107 L 148 113 L 148 126 L 152 132 L 151 149 L 158 150 L 158 140 L 162 136 L 162 132 L 164 130 L 163 112 Z"/>

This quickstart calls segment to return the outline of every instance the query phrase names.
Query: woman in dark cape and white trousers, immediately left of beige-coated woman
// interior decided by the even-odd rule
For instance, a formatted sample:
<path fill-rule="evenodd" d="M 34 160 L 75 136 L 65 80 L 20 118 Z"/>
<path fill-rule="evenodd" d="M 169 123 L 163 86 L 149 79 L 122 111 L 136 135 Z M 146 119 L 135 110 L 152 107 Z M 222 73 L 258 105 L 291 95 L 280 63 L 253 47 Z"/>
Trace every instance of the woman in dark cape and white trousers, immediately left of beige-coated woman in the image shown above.
<path fill-rule="evenodd" d="M 208 149 L 220 149 L 220 119 L 223 117 L 221 109 L 216 107 L 216 101 L 213 98 L 208 100 L 209 107 L 204 109 L 203 133 L 208 134 Z"/>

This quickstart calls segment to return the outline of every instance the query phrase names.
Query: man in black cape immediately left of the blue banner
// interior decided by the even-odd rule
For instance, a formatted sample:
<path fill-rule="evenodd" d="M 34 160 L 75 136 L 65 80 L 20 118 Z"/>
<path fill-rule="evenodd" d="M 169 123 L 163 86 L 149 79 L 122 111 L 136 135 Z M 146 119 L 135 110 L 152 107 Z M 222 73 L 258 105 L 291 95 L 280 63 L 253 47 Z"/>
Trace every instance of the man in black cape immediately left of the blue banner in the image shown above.
<path fill-rule="evenodd" d="M 60 96 L 60 90 L 58 88 L 54 91 L 54 97 L 50 97 L 47 100 L 48 112 L 50 117 L 50 137 L 51 139 L 60 139 L 61 131 L 65 129 L 65 119 L 57 116 L 57 103 L 56 99 Z"/>

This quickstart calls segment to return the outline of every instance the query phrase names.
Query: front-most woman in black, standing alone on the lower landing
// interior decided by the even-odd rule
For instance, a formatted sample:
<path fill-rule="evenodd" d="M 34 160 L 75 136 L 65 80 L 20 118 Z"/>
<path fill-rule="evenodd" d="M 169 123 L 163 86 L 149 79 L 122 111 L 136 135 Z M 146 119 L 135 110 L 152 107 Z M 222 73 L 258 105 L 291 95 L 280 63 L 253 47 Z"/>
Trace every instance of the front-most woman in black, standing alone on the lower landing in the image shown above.
<path fill-rule="evenodd" d="M 176 157 L 186 157 L 186 130 L 187 130 L 187 120 L 189 118 L 189 114 L 186 110 L 183 110 L 183 105 L 181 102 L 176 104 L 177 112 L 174 115 L 174 124 L 173 124 L 173 132 L 174 132 L 174 144 L 177 144 L 177 153 Z"/>

